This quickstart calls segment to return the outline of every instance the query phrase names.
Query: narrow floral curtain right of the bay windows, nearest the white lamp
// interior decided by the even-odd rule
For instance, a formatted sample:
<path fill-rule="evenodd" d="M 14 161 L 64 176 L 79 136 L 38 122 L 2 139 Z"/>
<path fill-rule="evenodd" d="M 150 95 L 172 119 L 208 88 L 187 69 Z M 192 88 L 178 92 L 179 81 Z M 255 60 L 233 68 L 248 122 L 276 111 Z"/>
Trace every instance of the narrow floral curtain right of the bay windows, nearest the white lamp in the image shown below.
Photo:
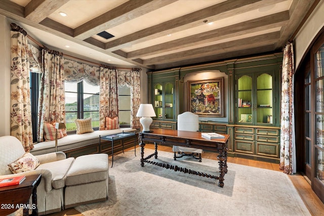
<path fill-rule="evenodd" d="M 136 117 L 136 113 L 140 106 L 140 72 L 137 69 L 133 69 L 131 72 L 131 127 L 140 128 L 140 117 Z"/>

